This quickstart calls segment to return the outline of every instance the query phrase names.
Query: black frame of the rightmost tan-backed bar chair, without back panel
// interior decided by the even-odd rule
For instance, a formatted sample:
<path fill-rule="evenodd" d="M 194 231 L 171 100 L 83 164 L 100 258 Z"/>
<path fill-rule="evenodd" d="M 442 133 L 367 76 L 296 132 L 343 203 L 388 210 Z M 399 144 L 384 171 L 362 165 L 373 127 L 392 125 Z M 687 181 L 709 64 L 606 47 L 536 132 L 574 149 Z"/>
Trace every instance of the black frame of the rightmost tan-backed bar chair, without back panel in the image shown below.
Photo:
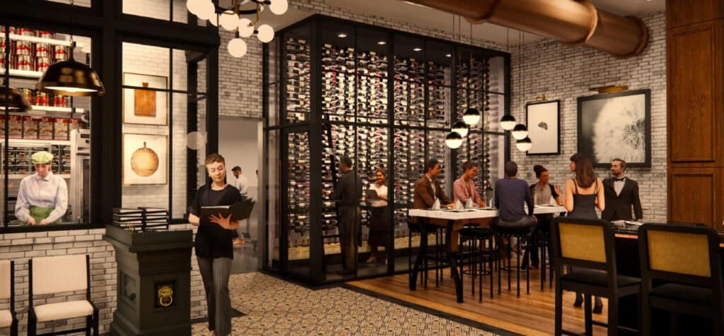
<path fill-rule="evenodd" d="M 665 231 L 682 234 L 694 234 L 707 238 L 707 250 L 709 252 L 710 277 L 686 275 L 675 272 L 665 272 L 651 269 L 651 258 L 649 256 L 649 231 Z M 638 231 L 639 236 L 639 261 L 641 262 L 641 335 L 651 335 L 651 309 L 665 309 L 682 314 L 710 317 L 713 324 L 714 335 L 720 335 L 724 327 L 724 303 L 723 303 L 723 276 L 721 254 L 719 246 L 719 235 L 712 228 L 707 226 L 694 225 L 671 225 L 647 223 L 641 225 Z M 656 283 L 676 283 L 695 288 L 711 288 L 712 304 L 700 304 L 691 301 L 680 301 L 673 298 L 654 297 L 650 295 L 653 285 Z M 673 331 L 673 330 L 672 330 Z"/>

